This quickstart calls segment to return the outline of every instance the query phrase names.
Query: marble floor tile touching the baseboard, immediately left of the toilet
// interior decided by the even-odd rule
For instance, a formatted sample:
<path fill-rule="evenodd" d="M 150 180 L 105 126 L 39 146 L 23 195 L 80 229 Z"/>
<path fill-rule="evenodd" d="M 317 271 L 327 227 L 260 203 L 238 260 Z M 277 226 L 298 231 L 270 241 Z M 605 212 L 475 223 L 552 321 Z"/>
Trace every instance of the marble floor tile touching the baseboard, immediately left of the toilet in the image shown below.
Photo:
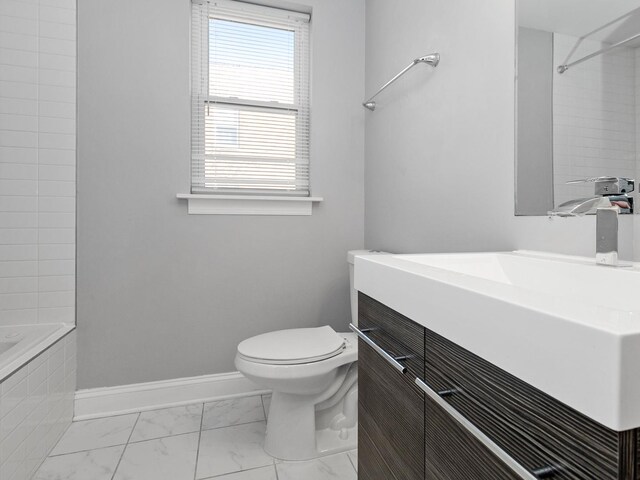
<path fill-rule="evenodd" d="M 264 410 L 260 395 L 205 403 L 202 429 L 229 427 L 242 423 L 263 421 Z"/>

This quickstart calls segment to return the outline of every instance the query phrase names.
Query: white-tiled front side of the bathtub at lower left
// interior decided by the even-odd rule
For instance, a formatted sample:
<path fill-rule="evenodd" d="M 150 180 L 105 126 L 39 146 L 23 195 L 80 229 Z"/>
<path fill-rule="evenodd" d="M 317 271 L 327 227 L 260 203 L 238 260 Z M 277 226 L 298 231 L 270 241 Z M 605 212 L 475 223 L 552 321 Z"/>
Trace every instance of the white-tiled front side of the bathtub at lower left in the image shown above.
<path fill-rule="evenodd" d="M 71 424 L 76 333 L 0 382 L 0 479 L 28 480 Z"/>

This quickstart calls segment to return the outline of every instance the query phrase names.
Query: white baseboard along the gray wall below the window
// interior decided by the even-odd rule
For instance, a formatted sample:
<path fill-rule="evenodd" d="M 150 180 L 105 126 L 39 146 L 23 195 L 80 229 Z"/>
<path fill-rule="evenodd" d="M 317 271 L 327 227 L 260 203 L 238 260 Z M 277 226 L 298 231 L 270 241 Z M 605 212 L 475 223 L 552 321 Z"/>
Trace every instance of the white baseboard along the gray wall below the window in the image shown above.
<path fill-rule="evenodd" d="M 240 372 L 78 390 L 74 420 L 268 393 Z"/>

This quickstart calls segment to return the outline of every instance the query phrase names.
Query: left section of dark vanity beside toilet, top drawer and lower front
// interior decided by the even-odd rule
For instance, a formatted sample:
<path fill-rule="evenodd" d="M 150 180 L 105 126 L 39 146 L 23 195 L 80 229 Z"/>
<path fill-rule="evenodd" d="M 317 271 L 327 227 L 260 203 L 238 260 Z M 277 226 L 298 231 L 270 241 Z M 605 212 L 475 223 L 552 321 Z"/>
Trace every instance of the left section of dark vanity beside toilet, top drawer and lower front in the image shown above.
<path fill-rule="evenodd" d="M 424 392 L 413 380 L 424 369 L 424 328 L 363 295 L 358 311 L 359 329 L 374 342 L 358 341 L 358 476 L 423 480 Z M 383 352 L 406 357 L 406 370 Z"/>

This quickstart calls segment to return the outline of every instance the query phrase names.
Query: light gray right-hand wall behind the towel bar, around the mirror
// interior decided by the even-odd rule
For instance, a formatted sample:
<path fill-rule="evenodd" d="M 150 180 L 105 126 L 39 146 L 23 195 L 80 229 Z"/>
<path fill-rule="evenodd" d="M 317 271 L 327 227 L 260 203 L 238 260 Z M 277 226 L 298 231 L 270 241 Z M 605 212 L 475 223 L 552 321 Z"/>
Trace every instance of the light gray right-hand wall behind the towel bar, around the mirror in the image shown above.
<path fill-rule="evenodd" d="M 395 252 L 595 254 L 595 218 L 514 215 L 515 5 L 367 0 L 366 89 L 416 67 L 366 115 L 365 245 Z M 633 255 L 633 219 L 621 219 Z"/>

